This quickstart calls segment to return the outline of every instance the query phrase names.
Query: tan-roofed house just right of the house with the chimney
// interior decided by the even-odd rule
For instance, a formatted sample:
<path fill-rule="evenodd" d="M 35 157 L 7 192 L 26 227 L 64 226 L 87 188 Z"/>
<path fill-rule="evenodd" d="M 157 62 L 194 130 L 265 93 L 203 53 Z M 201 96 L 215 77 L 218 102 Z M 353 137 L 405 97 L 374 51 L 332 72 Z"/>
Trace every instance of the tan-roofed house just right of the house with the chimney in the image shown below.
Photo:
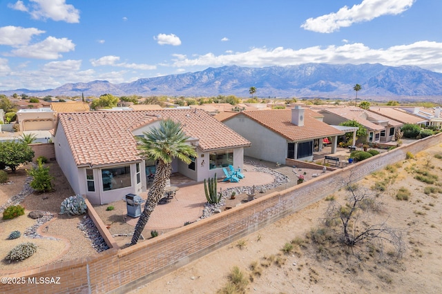
<path fill-rule="evenodd" d="M 324 122 L 331 125 L 339 125 L 345 121 L 354 120 L 367 129 L 367 137 L 359 138 L 359 141 L 369 143 L 385 143 L 394 140 L 396 130 L 403 124 L 394 119 L 378 115 L 375 112 L 358 107 L 325 108 L 318 111 L 324 115 Z"/>

